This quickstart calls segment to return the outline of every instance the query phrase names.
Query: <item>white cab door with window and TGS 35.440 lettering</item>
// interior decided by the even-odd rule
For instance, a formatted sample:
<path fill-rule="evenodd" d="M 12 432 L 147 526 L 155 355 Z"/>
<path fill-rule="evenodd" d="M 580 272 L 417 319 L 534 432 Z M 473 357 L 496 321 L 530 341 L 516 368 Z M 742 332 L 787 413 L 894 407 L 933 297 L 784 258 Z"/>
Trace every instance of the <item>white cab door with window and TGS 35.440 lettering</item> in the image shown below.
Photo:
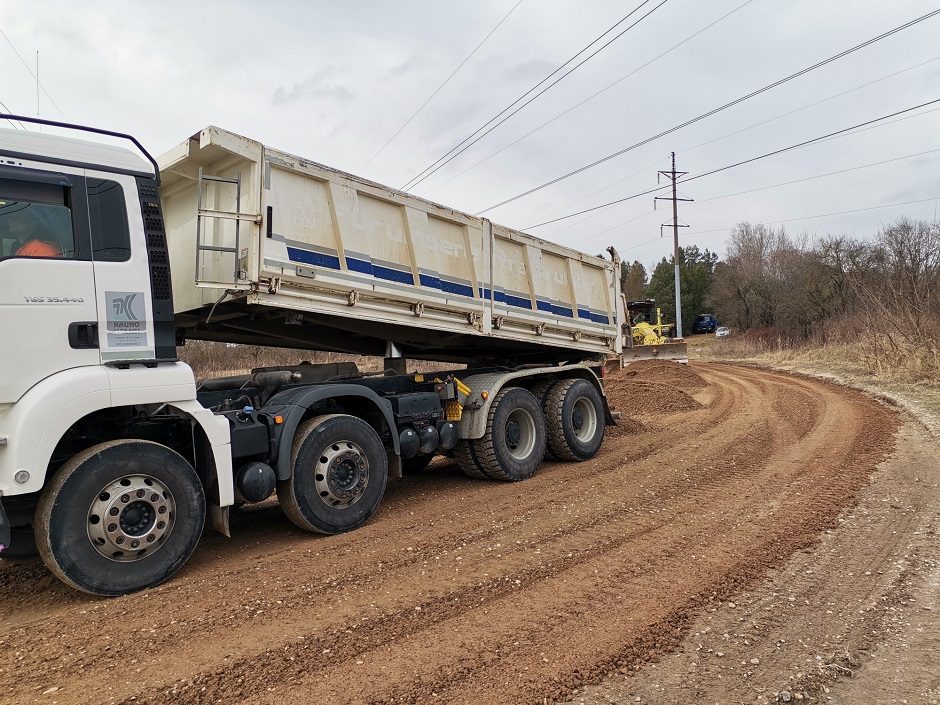
<path fill-rule="evenodd" d="M 0 404 L 100 362 L 84 177 L 41 166 L 0 166 Z"/>

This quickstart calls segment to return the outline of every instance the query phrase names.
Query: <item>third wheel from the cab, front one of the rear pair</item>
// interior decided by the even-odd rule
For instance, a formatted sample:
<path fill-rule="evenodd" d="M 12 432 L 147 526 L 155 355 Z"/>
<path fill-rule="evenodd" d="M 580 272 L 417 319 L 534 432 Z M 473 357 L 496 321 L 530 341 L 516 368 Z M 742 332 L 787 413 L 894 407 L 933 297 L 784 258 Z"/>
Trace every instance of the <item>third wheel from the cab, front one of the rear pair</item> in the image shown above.
<path fill-rule="evenodd" d="M 545 457 L 545 415 L 538 399 L 521 387 L 497 394 L 486 435 L 471 441 L 469 451 L 487 477 L 510 482 L 532 477 Z"/>

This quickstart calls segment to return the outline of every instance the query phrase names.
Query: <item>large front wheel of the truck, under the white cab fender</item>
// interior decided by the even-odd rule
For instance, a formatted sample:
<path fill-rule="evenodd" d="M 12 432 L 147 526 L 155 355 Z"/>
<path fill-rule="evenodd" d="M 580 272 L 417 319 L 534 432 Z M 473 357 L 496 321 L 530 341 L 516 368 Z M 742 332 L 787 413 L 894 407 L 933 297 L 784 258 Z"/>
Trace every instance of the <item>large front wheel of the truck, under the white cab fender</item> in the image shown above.
<path fill-rule="evenodd" d="M 36 509 L 36 545 L 67 585 L 123 595 L 182 568 L 205 519 L 202 483 L 182 456 L 151 441 L 109 441 L 53 476 Z"/>

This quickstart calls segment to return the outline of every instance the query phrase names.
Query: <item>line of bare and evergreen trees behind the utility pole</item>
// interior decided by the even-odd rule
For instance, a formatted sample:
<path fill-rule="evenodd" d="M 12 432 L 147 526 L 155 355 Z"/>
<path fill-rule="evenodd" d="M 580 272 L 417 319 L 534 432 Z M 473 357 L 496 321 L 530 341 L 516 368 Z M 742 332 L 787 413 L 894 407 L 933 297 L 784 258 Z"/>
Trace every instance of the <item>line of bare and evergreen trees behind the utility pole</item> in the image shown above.
<path fill-rule="evenodd" d="M 735 226 L 723 259 L 695 245 L 679 248 L 682 319 L 714 313 L 738 331 L 770 329 L 793 340 L 826 337 L 827 327 L 875 320 L 903 338 L 936 341 L 940 331 L 940 225 L 901 218 L 871 239 L 811 238 L 784 228 Z M 674 269 L 663 258 L 647 276 L 621 265 L 627 300 L 654 298 L 675 320 Z M 869 323 L 866 323 L 868 321 Z"/>

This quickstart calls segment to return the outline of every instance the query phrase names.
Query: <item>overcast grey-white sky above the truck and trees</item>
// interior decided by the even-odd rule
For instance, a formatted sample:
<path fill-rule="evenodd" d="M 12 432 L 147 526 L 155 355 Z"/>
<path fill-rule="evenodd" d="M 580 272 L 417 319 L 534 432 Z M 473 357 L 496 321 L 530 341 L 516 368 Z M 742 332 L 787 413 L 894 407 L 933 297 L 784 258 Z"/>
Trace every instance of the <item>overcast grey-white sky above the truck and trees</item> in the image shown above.
<path fill-rule="evenodd" d="M 132 132 L 154 154 L 214 124 L 400 187 L 639 3 L 7 0 L 0 101 L 36 113 L 33 76 L 13 47 L 30 68 L 38 51 L 52 98 L 41 92 L 43 116 Z M 593 49 L 652 10 L 639 24 L 412 192 L 476 213 L 937 7 L 661 3 L 646 3 Z M 940 99 L 937 37 L 940 15 L 486 215 L 526 229 L 655 187 L 672 150 L 678 168 L 694 176 Z M 683 195 L 695 202 L 681 204 L 690 225 L 682 241 L 721 252 L 729 227 L 742 220 L 864 237 L 900 215 L 932 219 L 940 199 L 938 108 L 688 184 Z M 842 173 L 779 185 L 831 172 Z M 921 202 L 888 205 L 911 201 Z M 531 232 L 591 252 L 614 244 L 624 258 L 649 264 L 671 250 L 671 240 L 659 238 L 670 214 L 652 206 L 643 196 Z M 857 212 L 809 217 L 842 211 Z"/>

